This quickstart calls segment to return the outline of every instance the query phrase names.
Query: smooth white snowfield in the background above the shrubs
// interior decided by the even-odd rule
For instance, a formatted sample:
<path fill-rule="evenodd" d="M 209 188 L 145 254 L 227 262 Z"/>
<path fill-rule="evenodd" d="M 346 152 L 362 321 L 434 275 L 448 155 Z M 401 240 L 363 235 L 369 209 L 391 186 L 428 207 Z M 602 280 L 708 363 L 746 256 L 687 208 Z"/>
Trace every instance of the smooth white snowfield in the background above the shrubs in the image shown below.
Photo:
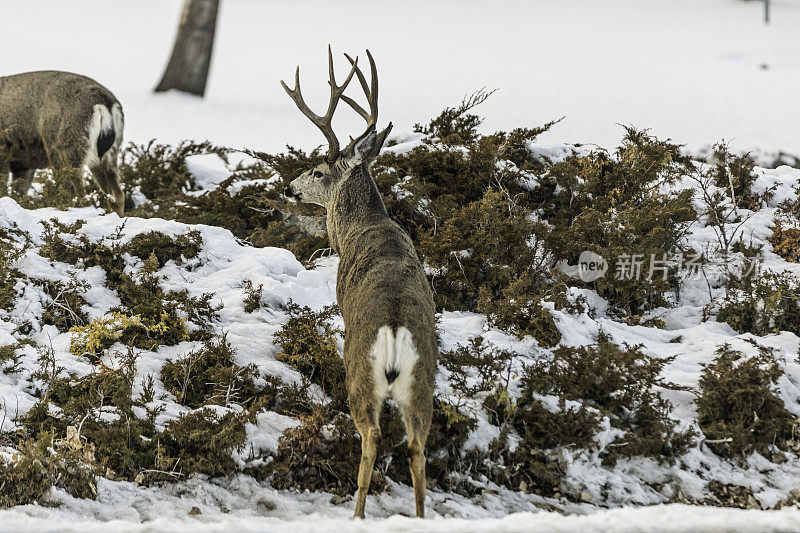
<path fill-rule="evenodd" d="M 762 2 L 741 0 L 225 0 L 199 100 L 150 92 L 179 0 L 2 0 L 0 75 L 92 76 L 122 101 L 131 140 L 310 148 L 321 137 L 278 81 L 301 65 L 324 105 L 330 42 L 373 52 L 395 132 L 485 86 L 500 89 L 481 107 L 487 131 L 566 115 L 544 140 L 615 146 L 617 124 L 634 124 L 696 149 L 725 138 L 798 154 L 800 0 L 771 3 L 767 26 Z M 342 135 L 360 128 L 340 114 Z"/>

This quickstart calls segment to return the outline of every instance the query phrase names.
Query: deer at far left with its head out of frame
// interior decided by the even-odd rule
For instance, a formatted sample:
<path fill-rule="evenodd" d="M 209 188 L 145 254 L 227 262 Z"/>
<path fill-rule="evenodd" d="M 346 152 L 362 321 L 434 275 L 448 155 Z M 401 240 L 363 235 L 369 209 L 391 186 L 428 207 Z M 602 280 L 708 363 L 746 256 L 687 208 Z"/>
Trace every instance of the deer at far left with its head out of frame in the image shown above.
<path fill-rule="evenodd" d="M 15 192 L 24 195 L 36 169 L 86 166 L 108 208 L 122 215 L 117 154 L 123 127 L 122 106 L 92 79 L 59 71 L 0 77 L 0 178 L 11 171 Z M 82 176 L 76 193 L 84 193 Z"/>

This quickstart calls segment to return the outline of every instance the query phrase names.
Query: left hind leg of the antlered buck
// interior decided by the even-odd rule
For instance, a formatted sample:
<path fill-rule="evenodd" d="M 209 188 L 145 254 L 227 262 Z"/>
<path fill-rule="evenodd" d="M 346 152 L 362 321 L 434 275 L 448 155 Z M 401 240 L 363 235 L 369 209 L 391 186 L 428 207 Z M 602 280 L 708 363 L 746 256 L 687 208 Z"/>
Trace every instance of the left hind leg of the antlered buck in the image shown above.
<path fill-rule="evenodd" d="M 381 403 L 373 394 L 369 398 L 359 395 L 350 396 L 350 413 L 361 434 L 361 463 L 358 467 L 358 496 L 356 497 L 355 518 L 364 518 L 367 493 L 372 480 L 372 469 L 378 455 L 378 444 L 381 440 L 381 428 L 378 424 Z"/>

